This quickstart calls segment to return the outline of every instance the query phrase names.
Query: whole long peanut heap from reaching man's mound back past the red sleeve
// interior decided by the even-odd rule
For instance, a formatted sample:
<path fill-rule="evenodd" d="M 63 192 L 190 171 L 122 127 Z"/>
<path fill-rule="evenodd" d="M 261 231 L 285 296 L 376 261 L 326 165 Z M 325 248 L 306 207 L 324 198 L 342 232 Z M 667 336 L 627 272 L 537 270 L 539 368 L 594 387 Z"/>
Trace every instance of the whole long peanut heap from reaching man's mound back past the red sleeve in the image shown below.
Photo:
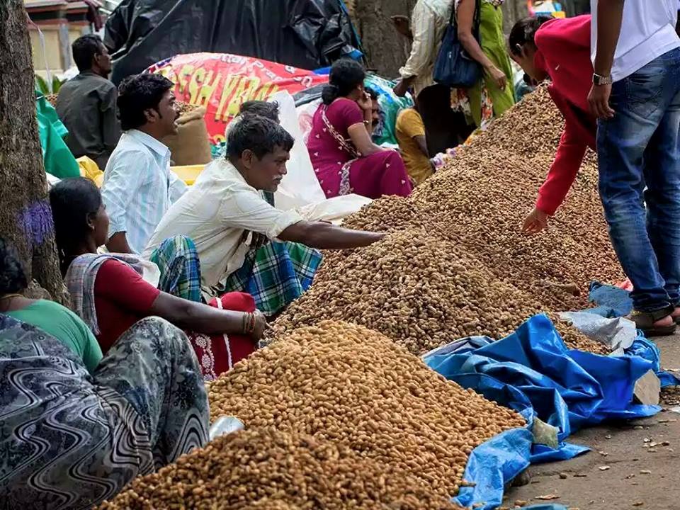
<path fill-rule="evenodd" d="M 463 336 L 502 338 L 537 312 L 587 307 L 591 280 L 624 278 L 592 154 L 548 230 L 521 232 L 562 126 L 548 91 L 538 89 L 412 196 L 375 200 L 349 217 L 346 227 L 390 235 L 367 248 L 324 254 L 314 285 L 274 331 L 343 319 L 419 354 Z M 574 328 L 558 328 L 571 348 L 607 353 Z"/>

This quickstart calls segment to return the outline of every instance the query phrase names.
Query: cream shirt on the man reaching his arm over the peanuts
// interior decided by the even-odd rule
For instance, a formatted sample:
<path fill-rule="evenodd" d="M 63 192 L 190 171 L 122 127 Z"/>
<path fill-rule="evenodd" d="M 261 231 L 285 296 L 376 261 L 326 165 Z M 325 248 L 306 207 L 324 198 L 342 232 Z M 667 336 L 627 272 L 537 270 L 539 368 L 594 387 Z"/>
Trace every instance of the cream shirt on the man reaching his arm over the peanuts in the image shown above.
<path fill-rule="evenodd" d="M 302 221 L 295 210 L 269 205 L 239 171 L 217 159 L 201 172 L 196 183 L 163 217 L 144 251 L 148 258 L 169 237 L 191 237 L 200 259 L 204 287 L 212 287 L 243 266 L 250 249 L 248 232 L 269 239 Z"/>

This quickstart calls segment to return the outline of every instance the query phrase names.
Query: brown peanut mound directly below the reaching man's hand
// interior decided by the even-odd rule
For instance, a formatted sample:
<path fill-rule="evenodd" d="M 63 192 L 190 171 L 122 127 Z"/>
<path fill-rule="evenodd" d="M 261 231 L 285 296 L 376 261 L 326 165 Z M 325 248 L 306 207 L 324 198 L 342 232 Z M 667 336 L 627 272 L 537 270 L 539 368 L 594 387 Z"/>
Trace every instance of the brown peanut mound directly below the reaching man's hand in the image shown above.
<path fill-rule="evenodd" d="M 340 319 L 421 354 L 465 336 L 502 338 L 538 312 L 535 298 L 490 274 L 460 245 L 410 229 L 327 261 L 273 333 Z"/>

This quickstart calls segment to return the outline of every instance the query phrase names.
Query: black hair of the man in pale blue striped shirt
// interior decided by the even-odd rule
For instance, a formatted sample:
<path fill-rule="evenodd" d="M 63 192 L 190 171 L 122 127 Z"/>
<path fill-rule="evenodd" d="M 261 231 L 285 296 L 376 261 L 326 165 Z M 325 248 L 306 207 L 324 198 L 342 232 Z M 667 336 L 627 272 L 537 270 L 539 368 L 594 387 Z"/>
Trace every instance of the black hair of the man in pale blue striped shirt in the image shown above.
<path fill-rule="evenodd" d="M 120 128 L 127 131 L 145 125 L 145 111 L 158 111 L 161 99 L 173 87 L 172 81 L 160 74 L 142 73 L 125 78 L 118 86 Z"/>

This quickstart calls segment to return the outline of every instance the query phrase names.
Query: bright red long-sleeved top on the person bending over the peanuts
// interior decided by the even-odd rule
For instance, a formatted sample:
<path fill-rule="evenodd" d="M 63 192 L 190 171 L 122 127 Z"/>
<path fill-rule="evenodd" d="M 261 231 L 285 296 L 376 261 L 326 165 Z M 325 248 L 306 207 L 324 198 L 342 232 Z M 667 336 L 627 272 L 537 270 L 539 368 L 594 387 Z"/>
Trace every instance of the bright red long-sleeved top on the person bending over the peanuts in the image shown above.
<path fill-rule="evenodd" d="M 597 119 L 588 108 L 593 84 L 590 60 L 590 16 L 555 19 L 536 31 L 534 64 L 548 73 L 550 97 L 565 117 L 560 147 L 548 178 L 538 191 L 536 208 L 555 214 L 581 167 L 586 149 L 596 149 Z"/>

